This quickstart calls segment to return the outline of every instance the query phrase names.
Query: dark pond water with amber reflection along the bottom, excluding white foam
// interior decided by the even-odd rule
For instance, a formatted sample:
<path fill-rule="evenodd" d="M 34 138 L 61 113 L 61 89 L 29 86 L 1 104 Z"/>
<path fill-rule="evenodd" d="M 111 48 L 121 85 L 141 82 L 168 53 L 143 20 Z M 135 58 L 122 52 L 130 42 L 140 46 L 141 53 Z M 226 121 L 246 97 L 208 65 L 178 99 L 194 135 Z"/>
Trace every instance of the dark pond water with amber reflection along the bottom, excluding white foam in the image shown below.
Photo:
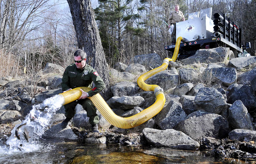
<path fill-rule="evenodd" d="M 2 143 L 3 144 L 3 143 Z M 106 144 L 81 145 L 74 141 L 40 139 L 40 149 L 34 151 L 0 152 L 1 164 L 117 164 L 117 163 L 255 163 L 256 160 L 219 159 L 201 151 L 179 151 L 150 146 L 120 146 Z M 36 146 L 36 145 L 35 145 Z"/>

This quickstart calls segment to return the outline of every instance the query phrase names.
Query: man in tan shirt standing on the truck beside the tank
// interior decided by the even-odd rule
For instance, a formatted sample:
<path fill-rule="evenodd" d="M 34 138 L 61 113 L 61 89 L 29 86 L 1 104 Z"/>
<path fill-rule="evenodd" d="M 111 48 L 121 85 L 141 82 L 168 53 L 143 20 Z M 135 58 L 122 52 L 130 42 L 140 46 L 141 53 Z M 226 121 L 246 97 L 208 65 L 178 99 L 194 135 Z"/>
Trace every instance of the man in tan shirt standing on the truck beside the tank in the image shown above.
<path fill-rule="evenodd" d="M 172 11 L 168 18 L 168 27 L 170 28 L 173 25 L 173 31 L 171 35 L 172 44 L 176 43 L 176 22 L 181 22 L 185 20 L 185 17 L 180 9 L 180 5 L 176 4 L 174 7 L 175 11 Z"/>

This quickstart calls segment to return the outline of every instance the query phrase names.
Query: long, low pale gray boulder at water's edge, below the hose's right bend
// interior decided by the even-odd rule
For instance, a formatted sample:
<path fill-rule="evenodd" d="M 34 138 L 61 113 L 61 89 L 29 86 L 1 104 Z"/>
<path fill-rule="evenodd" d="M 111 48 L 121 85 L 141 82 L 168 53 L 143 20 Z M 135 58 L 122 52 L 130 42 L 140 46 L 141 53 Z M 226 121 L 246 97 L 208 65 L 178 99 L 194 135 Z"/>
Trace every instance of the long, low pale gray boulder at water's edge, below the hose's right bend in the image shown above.
<path fill-rule="evenodd" d="M 156 130 L 145 128 L 142 133 L 148 143 L 156 146 L 164 146 L 181 150 L 196 150 L 200 146 L 198 142 L 183 132 L 176 131 L 174 129 Z"/>

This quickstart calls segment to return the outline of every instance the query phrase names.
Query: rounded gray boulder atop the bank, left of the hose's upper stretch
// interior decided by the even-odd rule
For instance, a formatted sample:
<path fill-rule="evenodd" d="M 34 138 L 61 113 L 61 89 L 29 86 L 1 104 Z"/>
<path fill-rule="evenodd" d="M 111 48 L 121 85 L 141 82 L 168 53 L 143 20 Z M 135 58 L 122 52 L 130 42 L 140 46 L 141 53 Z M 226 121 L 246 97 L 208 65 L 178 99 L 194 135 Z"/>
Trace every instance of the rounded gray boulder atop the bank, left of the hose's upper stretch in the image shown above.
<path fill-rule="evenodd" d="M 162 64 L 162 59 L 161 57 L 156 54 L 143 54 L 143 55 L 136 55 L 133 57 L 133 63 L 139 63 L 141 65 L 144 65 L 147 69 L 151 68 L 156 68 L 159 65 Z"/>

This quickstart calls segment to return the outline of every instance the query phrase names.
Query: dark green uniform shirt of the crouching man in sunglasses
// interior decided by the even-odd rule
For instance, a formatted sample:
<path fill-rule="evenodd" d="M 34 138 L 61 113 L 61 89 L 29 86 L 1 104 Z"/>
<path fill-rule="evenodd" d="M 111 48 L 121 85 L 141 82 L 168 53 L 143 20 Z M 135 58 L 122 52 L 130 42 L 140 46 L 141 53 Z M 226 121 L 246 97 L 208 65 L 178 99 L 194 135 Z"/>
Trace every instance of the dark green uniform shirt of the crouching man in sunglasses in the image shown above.
<path fill-rule="evenodd" d="M 92 87 L 92 82 L 94 82 L 95 87 L 88 92 L 90 97 L 105 88 L 102 78 L 88 64 L 85 65 L 83 70 L 76 68 L 76 64 L 70 64 L 63 74 L 61 86 L 62 90 L 66 91 L 69 88 L 74 89 L 81 86 Z"/>

